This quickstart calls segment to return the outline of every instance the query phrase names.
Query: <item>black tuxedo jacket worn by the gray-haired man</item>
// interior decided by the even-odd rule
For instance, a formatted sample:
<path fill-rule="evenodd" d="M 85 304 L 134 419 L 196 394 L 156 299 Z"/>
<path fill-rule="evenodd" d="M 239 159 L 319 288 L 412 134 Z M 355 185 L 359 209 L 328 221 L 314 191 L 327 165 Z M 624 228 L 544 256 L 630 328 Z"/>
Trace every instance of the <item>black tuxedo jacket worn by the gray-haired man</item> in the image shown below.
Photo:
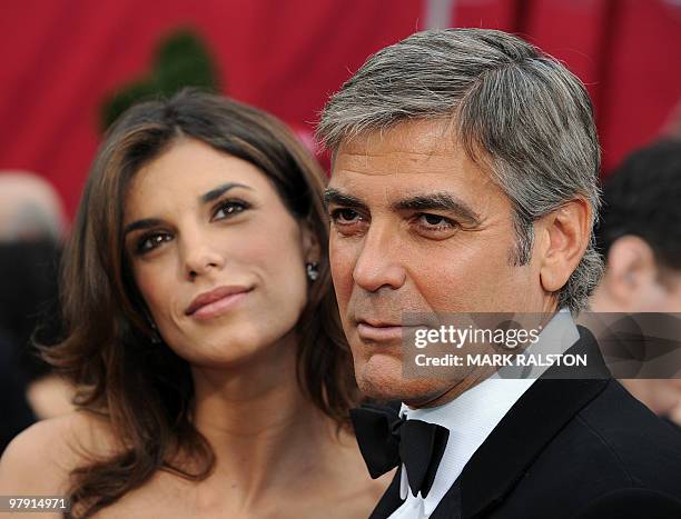
<path fill-rule="evenodd" d="M 610 377 L 580 327 L 589 378 L 552 367 L 511 408 L 431 519 L 681 519 L 681 432 Z M 401 469 L 399 469 L 401 470 Z M 371 519 L 401 505 L 399 470 Z"/>

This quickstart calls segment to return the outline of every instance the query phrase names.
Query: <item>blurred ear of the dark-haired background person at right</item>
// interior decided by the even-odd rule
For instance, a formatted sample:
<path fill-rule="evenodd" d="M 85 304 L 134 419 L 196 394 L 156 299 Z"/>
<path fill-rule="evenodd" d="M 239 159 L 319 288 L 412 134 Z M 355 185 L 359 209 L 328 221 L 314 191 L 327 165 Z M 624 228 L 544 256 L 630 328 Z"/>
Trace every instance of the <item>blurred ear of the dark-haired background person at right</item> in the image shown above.
<path fill-rule="evenodd" d="M 645 240 L 626 234 L 610 246 L 603 288 L 619 305 L 633 301 L 655 276 L 655 256 Z"/>

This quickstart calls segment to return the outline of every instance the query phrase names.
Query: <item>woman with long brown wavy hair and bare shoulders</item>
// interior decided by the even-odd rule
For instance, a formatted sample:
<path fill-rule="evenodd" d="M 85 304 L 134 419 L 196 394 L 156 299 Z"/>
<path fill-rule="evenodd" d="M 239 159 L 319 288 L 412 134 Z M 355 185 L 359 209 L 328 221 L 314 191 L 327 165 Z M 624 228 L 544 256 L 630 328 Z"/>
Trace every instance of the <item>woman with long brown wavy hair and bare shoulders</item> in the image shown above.
<path fill-rule="evenodd" d="M 75 517 L 366 517 L 322 174 L 270 116 L 185 91 L 130 109 L 66 253 L 80 407 L 8 448 L 0 495 Z"/>

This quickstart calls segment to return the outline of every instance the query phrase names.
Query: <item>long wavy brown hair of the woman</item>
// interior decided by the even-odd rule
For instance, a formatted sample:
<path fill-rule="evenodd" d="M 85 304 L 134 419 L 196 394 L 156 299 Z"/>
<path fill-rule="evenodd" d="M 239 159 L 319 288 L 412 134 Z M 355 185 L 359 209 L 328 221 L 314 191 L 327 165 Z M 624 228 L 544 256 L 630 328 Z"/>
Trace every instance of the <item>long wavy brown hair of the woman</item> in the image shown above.
<path fill-rule="evenodd" d="M 45 357 L 78 388 L 76 403 L 103 415 L 122 450 L 92 458 L 71 473 L 72 513 L 89 517 L 140 487 L 157 470 L 201 480 L 214 465 L 191 421 L 194 386 L 187 361 L 155 331 L 125 254 L 126 189 L 139 169 L 179 138 L 193 138 L 256 166 L 290 213 L 317 237 L 319 277 L 310 285 L 297 332 L 297 379 L 338 427 L 357 392 L 351 355 L 330 286 L 324 173 L 274 117 L 234 100 L 185 90 L 130 108 L 99 148 L 63 257 L 65 340 Z M 273 258 L 273 261 L 276 259 Z M 177 459 L 190 460 L 190 467 Z"/>

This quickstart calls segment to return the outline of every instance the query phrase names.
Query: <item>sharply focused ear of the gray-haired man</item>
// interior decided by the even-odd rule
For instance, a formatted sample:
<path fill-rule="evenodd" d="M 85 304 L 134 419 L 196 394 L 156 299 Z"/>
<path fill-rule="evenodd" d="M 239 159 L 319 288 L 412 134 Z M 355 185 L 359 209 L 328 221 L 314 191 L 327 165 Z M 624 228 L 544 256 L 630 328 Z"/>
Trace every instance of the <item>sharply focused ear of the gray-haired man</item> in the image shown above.
<path fill-rule="evenodd" d="M 537 240 L 540 282 L 546 292 L 565 286 L 591 239 L 591 206 L 572 200 L 540 220 Z"/>

